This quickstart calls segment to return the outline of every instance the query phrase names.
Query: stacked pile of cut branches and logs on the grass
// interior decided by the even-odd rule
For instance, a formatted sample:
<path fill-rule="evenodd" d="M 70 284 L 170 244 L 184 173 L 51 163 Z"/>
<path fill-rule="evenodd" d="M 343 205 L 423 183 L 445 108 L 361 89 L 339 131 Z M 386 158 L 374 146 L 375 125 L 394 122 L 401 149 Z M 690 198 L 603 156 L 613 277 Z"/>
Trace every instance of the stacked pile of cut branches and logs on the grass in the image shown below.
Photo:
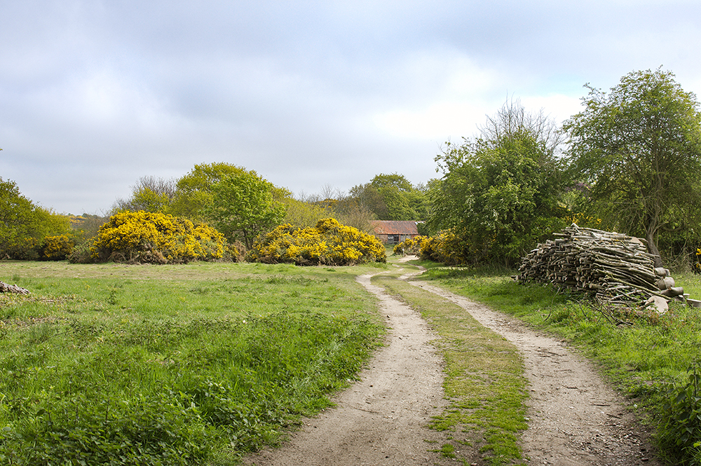
<path fill-rule="evenodd" d="M 576 224 L 524 257 L 518 279 L 589 292 L 617 304 L 683 294 L 669 270 L 655 268 L 645 240 Z"/>

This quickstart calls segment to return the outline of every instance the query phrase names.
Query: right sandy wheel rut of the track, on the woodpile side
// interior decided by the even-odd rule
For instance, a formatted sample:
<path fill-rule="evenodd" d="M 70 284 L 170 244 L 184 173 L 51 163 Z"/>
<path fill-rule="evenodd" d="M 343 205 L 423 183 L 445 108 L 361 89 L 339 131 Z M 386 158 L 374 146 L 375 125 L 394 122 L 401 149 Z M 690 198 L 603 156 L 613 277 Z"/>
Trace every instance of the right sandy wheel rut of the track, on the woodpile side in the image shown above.
<path fill-rule="evenodd" d="M 440 287 L 411 285 L 452 301 L 521 353 L 531 398 L 523 453 L 533 465 L 660 465 L 634 415 L 587 359 L 555 338 Z"/>

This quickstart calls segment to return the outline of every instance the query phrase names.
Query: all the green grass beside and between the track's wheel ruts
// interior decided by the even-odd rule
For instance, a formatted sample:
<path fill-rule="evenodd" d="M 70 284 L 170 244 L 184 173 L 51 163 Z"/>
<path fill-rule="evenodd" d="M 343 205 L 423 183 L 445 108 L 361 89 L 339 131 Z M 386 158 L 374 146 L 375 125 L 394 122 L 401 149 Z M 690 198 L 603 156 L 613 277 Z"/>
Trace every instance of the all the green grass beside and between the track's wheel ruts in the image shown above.
<path fill-rule="evenodd" d="M 658 429 L 668 458 L 695 464 L 696 447 L 674 455 L 679 436 L 664 412 L 671 397 L 682 400 L 672 403 L 677 412 L 701 419 L 701 406 L 680 397 L 700 359 L 700 309 L 620 313 L 518 285 L 508 271 L 422 265 L 422 280 L 581 348 Z M 64 262 L 0 263 L 0 280 L 32 292 L 0 294 L 0 462 L 234 465 L 277 444 L 301 416 L 329 406 L 381 342 L 376 301 L 355 282 L 379 272 L 373 282 L 421 311 L 441 336 L 449 407 L 433 428 L 448 441 L 427 449 L 518 464 L 527 397 L 519 355 L 455 305 L 397 280 L 391 264 Z M 699 276 L 676 280 L 701 297 Z M 701 438 L 689 419 L 674 422 Z"/>

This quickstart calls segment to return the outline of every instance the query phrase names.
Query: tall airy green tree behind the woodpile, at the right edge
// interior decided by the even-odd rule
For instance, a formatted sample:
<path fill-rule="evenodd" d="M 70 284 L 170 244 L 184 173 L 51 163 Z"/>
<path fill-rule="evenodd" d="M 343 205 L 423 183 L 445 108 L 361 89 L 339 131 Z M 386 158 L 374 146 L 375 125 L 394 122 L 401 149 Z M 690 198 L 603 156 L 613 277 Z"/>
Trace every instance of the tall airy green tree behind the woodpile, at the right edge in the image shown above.
<path fill-rule="evenodd" d="M 564 130 L 573 166 L 591 185 L 592 212 L 608 228 L 646 238 L 662 266 L 660 234 L 699 230 L 699 102 L 662 69 L 633 71 L 610 92 L 585 88 L 585 109 Z"/>

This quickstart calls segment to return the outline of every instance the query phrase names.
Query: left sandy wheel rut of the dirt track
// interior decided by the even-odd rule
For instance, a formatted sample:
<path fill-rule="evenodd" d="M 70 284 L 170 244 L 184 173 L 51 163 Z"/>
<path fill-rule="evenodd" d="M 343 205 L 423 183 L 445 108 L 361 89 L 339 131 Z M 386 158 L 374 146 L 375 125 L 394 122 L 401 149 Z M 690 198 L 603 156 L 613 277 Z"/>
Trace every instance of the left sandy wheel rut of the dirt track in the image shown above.
<path fill-rule="evenodd" d="M 333 400 L 336 408 L 306 419 L 282 447 L 244 458 L 247 465 L 447 465 L 431 452 L 442 434 L 429 430 L 443 406 L 442 358 L 435 335 L 415 310 L 357 278 L 379 299 L 388 336 L 360 373 L 360 381 Z M 440 444 L 433 448 L 440 448 Z"/>

